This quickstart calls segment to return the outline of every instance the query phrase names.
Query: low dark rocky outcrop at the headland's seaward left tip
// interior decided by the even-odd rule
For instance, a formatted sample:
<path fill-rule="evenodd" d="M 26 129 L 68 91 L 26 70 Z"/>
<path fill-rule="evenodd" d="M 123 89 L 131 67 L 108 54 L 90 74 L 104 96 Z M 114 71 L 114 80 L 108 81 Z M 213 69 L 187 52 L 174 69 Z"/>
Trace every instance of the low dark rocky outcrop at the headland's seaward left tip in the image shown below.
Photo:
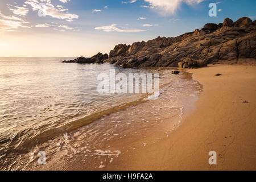
<path fill-rule="evenodd" d="M 63 63 L 82 63 L 82 64 L 88 64 L 88 63 L 104 63 L 104 60 L 108 59 L 109 55 L 108 54 L 102 54 L 101 52 L 97 53 L 97 55 L 94 55 L 90 58 L 85 58 L 85 57 L 77 57 L 74 60 L 69 60 L 69 61 L 62 61 Z"/>

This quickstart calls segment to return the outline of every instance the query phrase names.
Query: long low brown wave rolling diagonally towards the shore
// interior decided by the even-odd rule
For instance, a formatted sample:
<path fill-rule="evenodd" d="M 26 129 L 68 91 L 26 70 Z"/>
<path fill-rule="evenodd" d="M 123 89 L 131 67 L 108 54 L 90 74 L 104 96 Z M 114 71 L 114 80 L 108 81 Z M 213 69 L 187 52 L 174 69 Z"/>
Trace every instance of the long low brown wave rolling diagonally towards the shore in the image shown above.
<path fill-rule="evenodd" d="M 162 94 L 164 90 L 166 90 L 169 86 L 171 86 L 171 82 L 161 85 L 159 88 L 159 95 Z M 58 137 L 63 133 L 69 133 L 71 131 L 79 129 L 82 126 L 89 125 L 96 119 L 104 117 L 105 115 L 115 113 L 119 110 L 141 104 L 148 100 L 155 100 L 158 98 L 159 95 L 155 94 L 154 92 L 142 94 L 142 97 L 140 97 L 138 100 L 130 101 L 125 104 L 117 105 L 106 110 L 92 113 L 90 115 L 87 115 L 86 117 L 65 123 L 65 125 L 60 127 L 53 127 L 46 131 L 42 131 L 42 128 L 46 128 L 44 126 L 38 129 L 39 131 L 32 131 L 32 129 L 20 131 L 18 134 L 15 135 L 15 137 L 9 139 L 2 139 L 0 141 L 1 145 L 5 145 L 5 149 L 3 149 L 2 147 L 2 149 L 0 150 L 0 156 L 2 156 L 3 154 L 9 154 L 13 152 L 25 154 L 29 152 L 31 148 L 33 148 L 34 146 L 47 142 L 47 140 L 54 139 L 55 137 Z"/>

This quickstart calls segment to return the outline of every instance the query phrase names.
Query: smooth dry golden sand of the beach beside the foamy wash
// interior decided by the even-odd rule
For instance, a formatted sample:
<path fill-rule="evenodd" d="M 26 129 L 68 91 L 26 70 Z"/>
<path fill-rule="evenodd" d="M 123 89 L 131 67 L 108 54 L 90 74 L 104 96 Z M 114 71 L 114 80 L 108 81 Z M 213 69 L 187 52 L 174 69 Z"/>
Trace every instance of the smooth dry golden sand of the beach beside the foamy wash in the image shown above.
<path fill-rule="evenodd" d="M 209 65 L 187 71 L 204 89 L 195 109 L 168 138 L 122 156 L 108 169 L 256 169 L 256 67 Z M 217 165 L 208 163 L 209 151 L 217 152 Z"/>

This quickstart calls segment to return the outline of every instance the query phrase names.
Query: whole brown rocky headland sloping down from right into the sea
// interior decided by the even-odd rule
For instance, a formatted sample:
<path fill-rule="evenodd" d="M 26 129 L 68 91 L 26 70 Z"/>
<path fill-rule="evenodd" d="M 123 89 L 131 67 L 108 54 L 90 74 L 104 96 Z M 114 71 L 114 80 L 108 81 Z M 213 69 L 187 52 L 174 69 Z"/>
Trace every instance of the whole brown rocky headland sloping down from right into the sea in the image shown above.
<path fill-rule="evenodd" d="M 208 23 L 201 30 L 175 38 L 118 44 L 109 55 L 98 53 L 63 63 L 109 63 L 123 68 L 198 68 L 216 63 L 256 63 L 256 20 L 243 17 L 233 22 L 226 18 L 223 23 Z"/>

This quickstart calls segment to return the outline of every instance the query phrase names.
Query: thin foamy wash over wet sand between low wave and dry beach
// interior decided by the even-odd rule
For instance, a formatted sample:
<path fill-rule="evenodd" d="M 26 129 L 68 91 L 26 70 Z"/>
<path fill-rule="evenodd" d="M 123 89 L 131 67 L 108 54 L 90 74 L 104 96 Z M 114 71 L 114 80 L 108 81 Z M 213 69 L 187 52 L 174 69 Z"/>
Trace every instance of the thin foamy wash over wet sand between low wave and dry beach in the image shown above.
<path fill-rule="evenodd" d="M 163 84 L 156 100 L 144 98 L 138 104 L 39 144 L 21 155 L 11 169 L 123 169 L 123 159 L 129 160 L 135 151 L 170 137 L 180 126 L 183 113 L 199 98 L 202 88 L 192 80 L 191 73 L 172 75 L 171 70 L 162 71 L 159 77 L 167 84 Z M 38 164 L 39 151 L 46 153 L 46 165 Z"/>

